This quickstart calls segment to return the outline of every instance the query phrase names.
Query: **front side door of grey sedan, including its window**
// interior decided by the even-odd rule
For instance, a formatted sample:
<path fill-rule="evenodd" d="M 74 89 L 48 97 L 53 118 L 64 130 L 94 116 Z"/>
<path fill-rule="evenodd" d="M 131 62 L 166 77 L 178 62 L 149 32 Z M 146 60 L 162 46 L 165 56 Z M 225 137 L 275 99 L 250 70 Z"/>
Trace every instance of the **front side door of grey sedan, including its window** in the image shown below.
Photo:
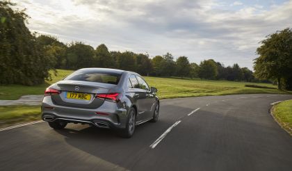
<path fill-rule="evenodd" d="M 147 115 L 147 119 L 152 118 L 153 113 L 154 113 L 154 106 L 155 106 L 154 94 L 150 91 L 148 84 L 141 76 L 136 76 L 136 77 L 140 84 L 140 88 L 145 90 L 144 93 L 145 93 L 146 99 L 145 99 L 144 105 L 145 105 L 145 113 Z"/>

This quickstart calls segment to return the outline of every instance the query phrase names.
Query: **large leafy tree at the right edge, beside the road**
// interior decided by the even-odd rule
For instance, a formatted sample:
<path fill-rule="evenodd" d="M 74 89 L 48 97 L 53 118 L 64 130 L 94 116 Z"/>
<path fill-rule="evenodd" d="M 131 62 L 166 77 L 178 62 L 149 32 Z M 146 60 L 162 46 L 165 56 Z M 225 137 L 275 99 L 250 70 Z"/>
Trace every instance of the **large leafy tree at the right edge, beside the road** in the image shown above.
<path fill-rule="evenodd" d="M 254 75 L 259 79 L 277 79 L 278 89 L 282 90 L 282 80 L 292 77 L 292 29 L 268 35 L 261 41 L 257 54 L 259 57 L 254 60 Z"/>

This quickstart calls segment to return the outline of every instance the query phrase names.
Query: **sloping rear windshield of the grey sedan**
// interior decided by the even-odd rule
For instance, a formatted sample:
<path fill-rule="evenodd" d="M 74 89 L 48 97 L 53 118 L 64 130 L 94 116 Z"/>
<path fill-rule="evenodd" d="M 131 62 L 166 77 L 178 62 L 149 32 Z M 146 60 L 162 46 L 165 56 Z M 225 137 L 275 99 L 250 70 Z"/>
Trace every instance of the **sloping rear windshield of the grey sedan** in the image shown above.
<path fill-rule="evenodd" d="M 122 74 L 98 71 L 77 71 L 64 80 L 90 81 L 96 83 L 111 83 L 117 85 Z"/>

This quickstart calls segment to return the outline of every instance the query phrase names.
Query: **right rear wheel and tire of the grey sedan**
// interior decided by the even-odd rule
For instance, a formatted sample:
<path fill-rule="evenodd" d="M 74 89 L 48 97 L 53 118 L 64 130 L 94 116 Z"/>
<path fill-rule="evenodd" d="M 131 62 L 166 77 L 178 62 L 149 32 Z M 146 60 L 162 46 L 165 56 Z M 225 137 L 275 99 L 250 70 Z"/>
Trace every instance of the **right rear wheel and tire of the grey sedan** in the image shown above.
<path fill-rule="evenodd" d="M 135 108 L 130 108 L 126 128 L 120 130 L 120 136 L 122 136 L 123 138 L 131 138 L 135 131 L 135 127 L 136 127 L 136 110 Z"/>

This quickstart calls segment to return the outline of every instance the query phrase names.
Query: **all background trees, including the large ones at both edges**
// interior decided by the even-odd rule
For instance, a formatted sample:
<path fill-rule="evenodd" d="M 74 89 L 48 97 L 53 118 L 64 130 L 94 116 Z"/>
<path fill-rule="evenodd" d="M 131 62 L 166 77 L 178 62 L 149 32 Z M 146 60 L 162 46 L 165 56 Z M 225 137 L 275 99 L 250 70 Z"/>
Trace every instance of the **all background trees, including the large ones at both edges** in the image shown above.
<path fill-rule="evenodd" d="M 51 35 L 31 33 L 24 10 L 0 1 L 0 84 L 35 85 L 49 79 L 49 70 L 108 67 L 138 72 L 143 76 L 180 76 L 228 81 L 277 81 L 279 89 L 292 88 L 292 31 L 268 35 L 257 49 L 253 73 L 247 67 L 223 65 L 213 59 L 200 64 L 170 53 L 149 58 L 132 51 L 109 51 L 105 44 L 94 48 L 83 42 L 64 44 Z"/>

